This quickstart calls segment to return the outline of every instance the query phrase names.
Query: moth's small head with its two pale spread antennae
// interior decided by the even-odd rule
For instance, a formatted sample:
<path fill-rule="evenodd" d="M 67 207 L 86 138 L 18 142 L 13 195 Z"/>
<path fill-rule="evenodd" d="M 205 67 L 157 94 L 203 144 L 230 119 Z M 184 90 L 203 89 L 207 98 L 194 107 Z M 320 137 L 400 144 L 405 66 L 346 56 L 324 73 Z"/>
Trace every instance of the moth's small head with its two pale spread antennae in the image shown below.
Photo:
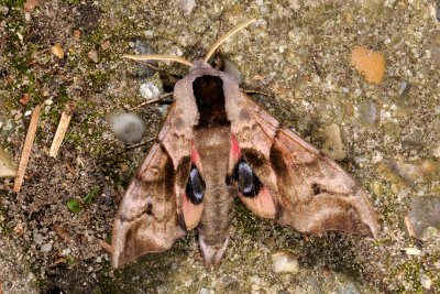
<path fill-rule="evenodd" d="M 173 62 L 185 64 L 185 65 L 189 66 L 189 72 L 191 72 L 194 69 L 199 69 L 199 68 L 212 68 L 212 66 L 208 62 L 215 54 L 216 50 L 229 37 L 234 35 L 237 32 L 244 29 L 245 26 L 250 25 L 255 20 L 250 20 L 243 24 L 235 26 L 231 31 L 229 31 L 226 35 L 223 35 L 215 44 L 212 44 L 212 46 L 209 48 L 209 51 L 205 57 L 196 58 L 194 62 L 189 62 L 185 58 L 182 58 L 178 56 L 170 56 L 170 55 L 123 55 L 122 57 L 133 59 L 133 61 L 139 61 L 139 62 L 173 61 Z"/>

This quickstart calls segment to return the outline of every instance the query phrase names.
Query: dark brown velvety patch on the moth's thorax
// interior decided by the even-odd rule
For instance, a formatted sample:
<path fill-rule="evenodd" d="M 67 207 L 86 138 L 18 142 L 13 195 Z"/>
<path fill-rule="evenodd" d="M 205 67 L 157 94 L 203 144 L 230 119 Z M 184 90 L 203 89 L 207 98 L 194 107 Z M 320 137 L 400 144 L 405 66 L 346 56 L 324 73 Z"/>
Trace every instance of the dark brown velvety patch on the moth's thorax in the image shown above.
<path fill-rule="evenodd" d="M 223 80 L 218 76 L 200 76 L 193 83 L 194 97 L 199 111 L 196 128 L 229 126 L 224 106 Z"/>

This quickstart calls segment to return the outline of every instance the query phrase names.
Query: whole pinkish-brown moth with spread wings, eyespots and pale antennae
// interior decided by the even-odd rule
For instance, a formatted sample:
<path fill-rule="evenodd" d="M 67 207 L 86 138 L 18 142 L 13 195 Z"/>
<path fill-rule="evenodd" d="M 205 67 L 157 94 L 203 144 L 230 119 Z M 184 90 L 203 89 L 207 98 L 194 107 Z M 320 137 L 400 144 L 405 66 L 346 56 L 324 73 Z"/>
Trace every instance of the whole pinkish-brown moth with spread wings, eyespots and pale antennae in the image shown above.
<path fill-rule="evenodd" d="M 163 127 L 117 213 L 114 268 L 169 249 L 197 228 L 207 266 L 218 266 L 230 239 L 233 197 L 262 218 L 304 233 L 376 236 L 376 214 L 364 189 L 337 163 L 304 141 L 240 90 L 205 58 L 177 81 Z"/>

